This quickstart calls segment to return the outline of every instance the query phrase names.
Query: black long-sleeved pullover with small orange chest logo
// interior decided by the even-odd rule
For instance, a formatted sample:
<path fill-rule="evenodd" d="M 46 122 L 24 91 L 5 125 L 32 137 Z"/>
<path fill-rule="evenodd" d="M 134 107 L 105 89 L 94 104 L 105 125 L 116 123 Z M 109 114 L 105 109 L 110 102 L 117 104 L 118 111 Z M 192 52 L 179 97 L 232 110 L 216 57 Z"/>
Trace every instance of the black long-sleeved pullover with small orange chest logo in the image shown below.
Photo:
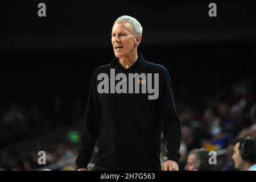
<path fill-rule="evenodd" d="M 110 93 L 110 86 L 108 93 L 99 93 L 98 84 L 101 80 L 98 80 L 98 75 L 105 73 L 110 80 L 111 69 L 114 69 L 115 75 L 124 73 L 127 79 L 129 73 L 158 73 L 158 98 L 149 100 L 148 93 Z M 117 82 L 119 80 L 115 80 L 115 84 Z M 135 80 L 134 84 L 141 86 L 148 84 L 148 80 Z M 129 84 L 127 90 L 128 87 Z M 77 168 L 87 168 L 98 139 L 96 166 L 112 170 L 160 170 L 162 131 L 167 141 L 168 160 L 178 162 L 181 127 L 168 70 L 144 60 L 141 53 L 138 53 L 138 60 L 128 69 L 122 67 L 115 57 L 110 64 L 93 72 Z"/>

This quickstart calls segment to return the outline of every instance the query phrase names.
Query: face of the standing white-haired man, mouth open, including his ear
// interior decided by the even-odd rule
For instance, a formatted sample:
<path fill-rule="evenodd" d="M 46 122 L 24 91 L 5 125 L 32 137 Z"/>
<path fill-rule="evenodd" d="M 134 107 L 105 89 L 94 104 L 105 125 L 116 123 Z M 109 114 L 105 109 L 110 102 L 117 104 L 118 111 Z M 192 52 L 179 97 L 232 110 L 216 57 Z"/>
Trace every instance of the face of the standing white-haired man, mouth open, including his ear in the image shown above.
<path fill-rule="evenodd" d="M 128 22 L 115 23 L 112 28 L 112 45 L 116 57 L 126 57 L 136 51 L 141 36 L 134 35 L 133 27 Z"/>

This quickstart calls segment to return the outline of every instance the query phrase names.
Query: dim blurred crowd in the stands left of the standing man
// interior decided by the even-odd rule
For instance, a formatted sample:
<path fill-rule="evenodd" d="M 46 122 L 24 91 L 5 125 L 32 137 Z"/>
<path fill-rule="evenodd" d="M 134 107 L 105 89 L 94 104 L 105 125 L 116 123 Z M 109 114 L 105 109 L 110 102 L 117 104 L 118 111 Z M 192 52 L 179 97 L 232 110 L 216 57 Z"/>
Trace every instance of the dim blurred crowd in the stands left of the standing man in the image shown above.
<path fill-rule="evenodd" d="M 11 102 L 0 110 L 0 170 L 35 170 L 71 160 L 75 169 L 77 143 L 86 101 L 53 95 L 49 100 Z M 64 114 L 65 113 L 65 114 Z M 78 134 L 77 134 L 78 135 Z M 76 136 L 78 138 L 79 136 Z M 46 165 L 39 165 L 38 151 L 46 152 Z"/>

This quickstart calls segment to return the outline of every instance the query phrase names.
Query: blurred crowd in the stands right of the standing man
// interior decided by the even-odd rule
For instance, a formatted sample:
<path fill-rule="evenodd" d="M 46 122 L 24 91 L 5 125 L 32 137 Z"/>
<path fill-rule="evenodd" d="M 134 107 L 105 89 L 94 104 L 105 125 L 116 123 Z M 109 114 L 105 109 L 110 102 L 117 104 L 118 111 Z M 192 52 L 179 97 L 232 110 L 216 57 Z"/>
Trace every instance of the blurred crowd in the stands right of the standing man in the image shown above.
<path fill-rule="evenodd" d="M 212 170 L 234 170 L 236 139 L 256 139 L 255 93 L 255 82 L 236 82 L 191 104 L 177 105 L 182 127 L 181 169 L 188 169 L 189 152 L 204 149 L 220 151 Z"/>

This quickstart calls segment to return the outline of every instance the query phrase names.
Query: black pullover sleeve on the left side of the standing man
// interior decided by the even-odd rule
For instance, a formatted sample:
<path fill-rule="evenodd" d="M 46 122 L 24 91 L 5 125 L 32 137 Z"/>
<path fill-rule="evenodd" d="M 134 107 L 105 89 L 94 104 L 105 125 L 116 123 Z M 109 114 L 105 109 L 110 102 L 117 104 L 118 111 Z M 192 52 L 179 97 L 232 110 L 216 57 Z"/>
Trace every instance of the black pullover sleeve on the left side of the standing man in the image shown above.
<path fill-rule="evenodd" d="M 77 168 L 87 168 L 93 155 L 94 146 L 98 138 L 98 130 L 101 118 L 100 98 L 97 92 L 97 80 L 95 72 L 92 75 L 89 86 L 89 96 L 85 120 L 81 130 L 81 142 L 79 156 L 76 159 Z"/>

